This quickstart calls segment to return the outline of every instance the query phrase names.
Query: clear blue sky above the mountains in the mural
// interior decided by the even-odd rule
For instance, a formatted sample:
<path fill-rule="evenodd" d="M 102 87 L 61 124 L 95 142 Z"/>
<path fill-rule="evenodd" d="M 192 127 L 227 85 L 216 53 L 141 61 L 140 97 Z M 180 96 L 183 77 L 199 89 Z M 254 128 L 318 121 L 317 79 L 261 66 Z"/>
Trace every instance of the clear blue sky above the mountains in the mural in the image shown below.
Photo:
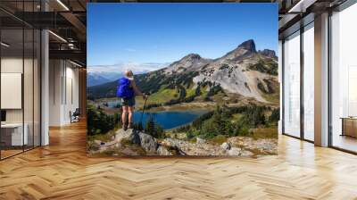
<path fill-rule="evenodd" d="M 87 4 L 87 63 L 217 58 L 253 38 L 278 49 L 278 4 Z"/>

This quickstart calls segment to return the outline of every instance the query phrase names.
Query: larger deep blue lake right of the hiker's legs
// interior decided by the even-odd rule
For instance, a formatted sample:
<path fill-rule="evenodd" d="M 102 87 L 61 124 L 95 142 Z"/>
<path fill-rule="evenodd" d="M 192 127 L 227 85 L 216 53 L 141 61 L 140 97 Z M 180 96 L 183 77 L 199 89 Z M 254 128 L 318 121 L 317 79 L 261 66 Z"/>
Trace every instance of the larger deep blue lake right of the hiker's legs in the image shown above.
<path fill-rule="evenodd" d="M 162 126 L 163 129 L 172 129 L 195 121 L 201 116 L 204 111 L 168 111 L 168 112 L 144 112 L 143 126 L 149 119 L 150 115 L 153 116 L 154 121 Z M 134 113 L 134 121 L 139 122 L 142 112 Z"/>

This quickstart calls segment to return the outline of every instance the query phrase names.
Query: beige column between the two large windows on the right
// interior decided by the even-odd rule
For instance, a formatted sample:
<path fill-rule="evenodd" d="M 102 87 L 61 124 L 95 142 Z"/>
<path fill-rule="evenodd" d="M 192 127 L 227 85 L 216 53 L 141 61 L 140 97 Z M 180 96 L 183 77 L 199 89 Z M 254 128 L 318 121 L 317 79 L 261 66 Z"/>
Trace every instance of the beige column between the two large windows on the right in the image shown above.
<path fill-rule="evenodd" d="M 315 145 L 328 146 L 328 13 L 315 17 Z"/>

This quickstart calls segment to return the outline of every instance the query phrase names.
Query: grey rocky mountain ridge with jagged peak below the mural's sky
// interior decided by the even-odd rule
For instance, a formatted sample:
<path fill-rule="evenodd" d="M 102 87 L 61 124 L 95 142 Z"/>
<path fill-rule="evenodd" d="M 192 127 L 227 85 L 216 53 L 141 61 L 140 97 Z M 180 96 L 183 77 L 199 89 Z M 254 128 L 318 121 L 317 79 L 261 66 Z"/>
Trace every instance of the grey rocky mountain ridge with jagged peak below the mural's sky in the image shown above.
<path fill-rule="evenodd" d="M 201 93 L 204 93 L 203 90 L 210 93 L 212 88 L 220 87 L 229 94 L 270 103 L 270 96 L 278 96 L 278 61 L 275 51 L 257 51 L 253 39 L 249 39 L 220 58 L 209 59 L 199 54 L 187 54 L 166 68 L 136 75 L 135 79 L 139 88 L 151 94 L 162 88 L 175 87 L 180 91 L 197 91 L 199 87 Z M 88 95 L 114 97 L 116 85 L 114 81 L 89 87 Z M 186 91 L 179 92 L 179 98 L 185 96 Z"/>

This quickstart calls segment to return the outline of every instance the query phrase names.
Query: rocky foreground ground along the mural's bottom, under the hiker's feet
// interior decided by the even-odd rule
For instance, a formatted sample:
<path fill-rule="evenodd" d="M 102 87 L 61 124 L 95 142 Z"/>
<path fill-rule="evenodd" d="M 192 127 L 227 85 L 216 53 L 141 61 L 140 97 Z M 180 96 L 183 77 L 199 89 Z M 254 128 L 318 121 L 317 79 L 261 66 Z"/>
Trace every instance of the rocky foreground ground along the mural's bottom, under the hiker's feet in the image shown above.
<path fill-rule="evenodd" d="M 89 154 L 111 155 L 221 155 L 221 156 L 259 156 L 277 154 L 277 139 L 253 139 L 252 137 L 229 137 L 222 144 L 215 144 L 196 137 L 195 142 L 177 138 L 156 138 L 144 132 L 119 129 L 115 139 L 88 143 Z"/>

